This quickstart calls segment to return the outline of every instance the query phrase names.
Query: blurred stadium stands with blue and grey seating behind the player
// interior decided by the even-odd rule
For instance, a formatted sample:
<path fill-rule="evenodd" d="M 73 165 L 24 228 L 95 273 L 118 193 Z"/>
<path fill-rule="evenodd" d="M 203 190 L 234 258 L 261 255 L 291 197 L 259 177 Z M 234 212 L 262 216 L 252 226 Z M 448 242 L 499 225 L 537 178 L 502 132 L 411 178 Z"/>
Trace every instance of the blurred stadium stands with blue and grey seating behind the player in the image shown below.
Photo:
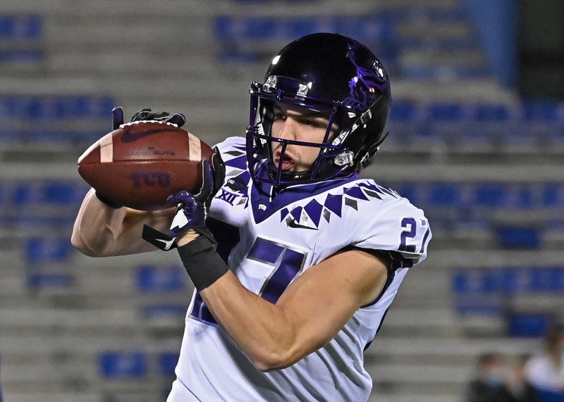
<path fill-rule="evenodd" d="M 560 0 L 2 0 L 4 402 L 164 401 L 191 285 L 174 253 L 72 249 L 77 158 L 116 105 L 243 135 L 250 82 L 318 31 L 386 66 L 391 134 L 364 175 L 434 229 L 366 352 L 371 401 L 465 401 L 479 356 L 542 352 L 564 306 L 563 21 Z"/>

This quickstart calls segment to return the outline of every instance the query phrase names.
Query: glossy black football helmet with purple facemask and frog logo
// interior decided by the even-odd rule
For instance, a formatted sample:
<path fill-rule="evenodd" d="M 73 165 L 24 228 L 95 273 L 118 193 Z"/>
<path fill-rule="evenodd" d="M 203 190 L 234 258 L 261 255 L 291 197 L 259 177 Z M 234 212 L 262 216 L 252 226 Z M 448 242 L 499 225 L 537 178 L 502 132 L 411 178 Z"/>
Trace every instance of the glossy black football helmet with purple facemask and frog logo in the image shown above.
<path fill-rule="evenodd" d="M 388 75 L 366 46 L 340 34 L 310 34 L 286 45 L 266 70 L 264 84 L 250 87 L 247 159 L 254 180 L 276 187 L 343 177 L 371 163 L 386 138 L 391 106 Z M 329 123 L 321 144 L 273 137 L 275 102 L 327 113 Z M 338 130 L 331 134 L 331 126 Z M 275 164 L 272 143 L 281 144 Z M 286 146 L 319 149 L 303 172 L 282 170 Z"/>

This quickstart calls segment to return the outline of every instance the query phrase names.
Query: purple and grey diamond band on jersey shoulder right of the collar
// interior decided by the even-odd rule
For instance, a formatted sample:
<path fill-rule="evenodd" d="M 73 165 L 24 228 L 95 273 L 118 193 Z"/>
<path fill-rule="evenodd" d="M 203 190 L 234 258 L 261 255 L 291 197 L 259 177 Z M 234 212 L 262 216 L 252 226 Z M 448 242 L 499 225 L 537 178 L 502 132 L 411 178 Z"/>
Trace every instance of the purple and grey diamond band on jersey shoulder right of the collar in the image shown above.
<path fill-rule="evenodd" d="M 280 220 L 285 220 L 288 227 L 300 229 L 319 230 L 319 222 L 324 218 L 329 223 L 331 216 L 341 218 L 343 208 L 353 208 L 358 211 L 359 203 L 370 199 L 382 199 L 382 196 L 393 196 L 399 198 L 396 191 L 379 186 L 361 182 L 353 187 L 338 187 L 338 194 L 327 194 L 323 204 L 317 198 L 309 201 L 305 206 L 294 208 L 283 208 Z"/>

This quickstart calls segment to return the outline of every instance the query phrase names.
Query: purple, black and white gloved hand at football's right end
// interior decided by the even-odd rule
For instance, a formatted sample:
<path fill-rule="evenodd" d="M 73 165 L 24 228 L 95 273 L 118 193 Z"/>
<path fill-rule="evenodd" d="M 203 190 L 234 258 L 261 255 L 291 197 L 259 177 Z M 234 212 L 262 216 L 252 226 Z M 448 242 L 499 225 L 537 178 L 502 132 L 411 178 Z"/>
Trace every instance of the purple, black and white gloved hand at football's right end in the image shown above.
<path fill-rule="evenodd" d="M 189 229 L 202 232 L 202 228 L 206 226 L 209 204 L 223 185 L 223 180 L 225 180 L 225 164 L 221 160 L 219 151 L 216 151 L 211 162 L 202 161 L 202 187 L 198 194 L 178 191 L 168 196 L 166 201 L 177 204 L 171 224 L 170 235 L 172 237 Z"/>

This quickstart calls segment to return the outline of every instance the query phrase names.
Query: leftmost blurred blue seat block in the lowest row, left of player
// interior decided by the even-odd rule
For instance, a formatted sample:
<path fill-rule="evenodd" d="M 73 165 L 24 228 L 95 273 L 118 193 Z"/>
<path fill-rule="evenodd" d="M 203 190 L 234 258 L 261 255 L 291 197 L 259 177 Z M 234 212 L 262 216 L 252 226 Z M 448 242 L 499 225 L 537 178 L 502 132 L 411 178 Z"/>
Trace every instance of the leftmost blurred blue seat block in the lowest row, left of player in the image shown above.
<path fill-rule="evenodd" d="M 99 356 L 99 372 L 108 379 L 134 379 L 147 375 L 147 356 L 142 351 L 106 351 Z"/>

